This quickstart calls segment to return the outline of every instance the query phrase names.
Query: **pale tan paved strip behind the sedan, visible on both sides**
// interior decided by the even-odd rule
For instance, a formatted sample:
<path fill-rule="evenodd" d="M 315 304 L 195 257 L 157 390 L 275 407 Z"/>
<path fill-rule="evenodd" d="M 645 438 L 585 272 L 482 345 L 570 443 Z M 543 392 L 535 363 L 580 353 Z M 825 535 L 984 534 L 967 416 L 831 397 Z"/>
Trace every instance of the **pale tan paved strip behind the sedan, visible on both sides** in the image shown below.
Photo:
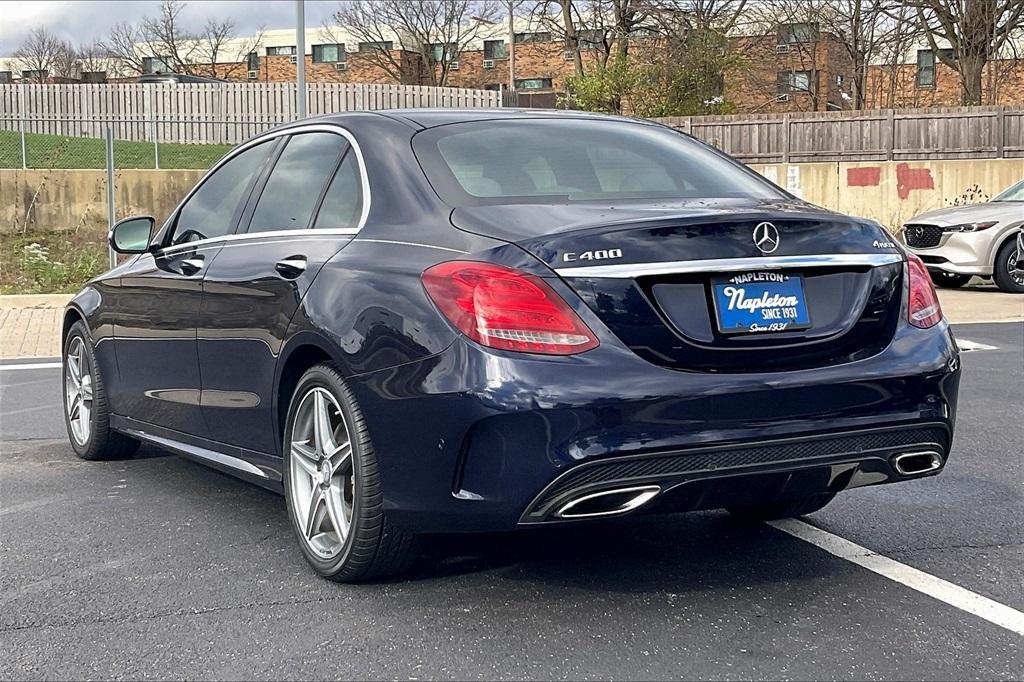
<path fill-rule="evenodd" d="M 68 294 L 0 296 L 0 360 L 56 357 Z M 946 318 L 954 324 L 1024 321 L 1024 296 L 992 287 L 940 289 Z"/>

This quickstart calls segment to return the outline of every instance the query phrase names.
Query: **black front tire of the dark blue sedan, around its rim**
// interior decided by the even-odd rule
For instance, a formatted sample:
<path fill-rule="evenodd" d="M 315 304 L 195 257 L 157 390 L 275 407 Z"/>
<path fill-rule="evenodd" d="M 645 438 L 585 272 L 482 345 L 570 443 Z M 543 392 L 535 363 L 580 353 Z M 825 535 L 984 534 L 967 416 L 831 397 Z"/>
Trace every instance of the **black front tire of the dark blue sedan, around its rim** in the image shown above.
<path fill-rule="evenodd" d="M 79 441 L 72 431 L 72 420 L 68 410 L 68 390 L 61 390 L 63 396 L 65 427 L 68 429 L 68 439 L 71 446 L 83 460 L 103 461 L 103 460 L 124 460 L 130 458 L 138 450 L 139 442 L 131 436 L 118 433 L 111 429 L 111 413 L 106 400 L 106 386 L 103 377 L 99 373 L 96 357 L 92 349 L 92 341 L 89 338 L 89 331 L 82 322 L 72 325 L 65 339 L 63 351 L 61 354 L 60 384 L 61 388 L 68 385 L 68 354 L 72 346 L 77 345 L 77 340 L 81 341 L 83 354 L 86 363 L 86 370 L 91 378 L 92 400 L 91 419 L 89 420 L 89 433 L 84 441 Z"/>

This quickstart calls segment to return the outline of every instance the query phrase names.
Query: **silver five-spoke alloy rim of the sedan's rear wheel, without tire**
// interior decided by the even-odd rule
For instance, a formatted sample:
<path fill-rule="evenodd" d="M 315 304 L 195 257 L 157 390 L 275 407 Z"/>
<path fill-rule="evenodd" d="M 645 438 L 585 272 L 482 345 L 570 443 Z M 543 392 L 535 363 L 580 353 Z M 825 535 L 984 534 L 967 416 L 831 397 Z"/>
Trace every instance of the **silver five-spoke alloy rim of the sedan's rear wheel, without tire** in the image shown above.
<path fill-rule="evenodd" d="M 349 430 L 331 391 L 317 386 L 302 396 L 291 433 L 289 475 L 300 535 L 316 556 L 332 559 L 351 527 L 355 470 Z"/>

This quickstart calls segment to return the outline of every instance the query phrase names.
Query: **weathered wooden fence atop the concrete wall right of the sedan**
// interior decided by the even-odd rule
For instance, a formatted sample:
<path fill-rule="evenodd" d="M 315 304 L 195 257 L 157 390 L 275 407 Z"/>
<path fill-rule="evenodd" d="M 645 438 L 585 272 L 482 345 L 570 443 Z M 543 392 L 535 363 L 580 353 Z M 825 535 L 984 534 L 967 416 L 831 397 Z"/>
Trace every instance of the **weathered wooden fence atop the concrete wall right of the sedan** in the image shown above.
<path fill-rule="evenodd" d="M 656 119 L 746 163 L 1024 158 L 1024 108 Z"/>

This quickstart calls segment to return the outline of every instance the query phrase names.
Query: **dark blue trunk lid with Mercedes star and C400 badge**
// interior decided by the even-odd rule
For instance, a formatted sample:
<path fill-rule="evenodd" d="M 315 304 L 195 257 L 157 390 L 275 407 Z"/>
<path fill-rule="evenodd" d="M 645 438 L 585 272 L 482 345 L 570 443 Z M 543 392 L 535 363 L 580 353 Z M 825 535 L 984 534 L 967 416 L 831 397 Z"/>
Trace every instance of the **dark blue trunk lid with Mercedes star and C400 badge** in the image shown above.
<path fill-rule="evenodd" d="M 677 370 L 860 359 L 888 345 L 902 305 L 892 237 L 800 202 L 519 204 L 458 208 L 452 220 L 544 261 L 634 352 Z M 756 230 L 769 236 L 768 253 Z M 798 305 L 776 305 L 785 302 Z M 782 328 L 771 318 L 748 325 L 751 315 L 778 313 L 793 317 Z"/>

